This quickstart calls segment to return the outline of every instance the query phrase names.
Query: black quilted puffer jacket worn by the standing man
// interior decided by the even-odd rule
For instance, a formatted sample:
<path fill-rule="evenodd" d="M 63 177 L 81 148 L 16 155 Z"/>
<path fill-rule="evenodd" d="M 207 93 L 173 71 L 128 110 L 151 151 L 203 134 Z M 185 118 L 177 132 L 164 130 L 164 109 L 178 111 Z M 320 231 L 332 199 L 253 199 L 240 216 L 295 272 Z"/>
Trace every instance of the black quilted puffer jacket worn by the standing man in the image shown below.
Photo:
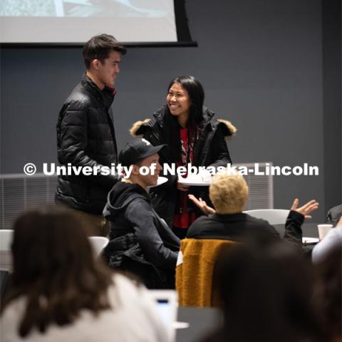
<path fill-rule="evenodd" d="M 100 90 L 83 76 L 58 116 L 57 147 L 61 165 L 110 167 L 117 162 L 117 147 L 110 105 L 113 89 Z M 56 200 L 69 207 L 102 214 L 117 175 L 58 176 Z"/>

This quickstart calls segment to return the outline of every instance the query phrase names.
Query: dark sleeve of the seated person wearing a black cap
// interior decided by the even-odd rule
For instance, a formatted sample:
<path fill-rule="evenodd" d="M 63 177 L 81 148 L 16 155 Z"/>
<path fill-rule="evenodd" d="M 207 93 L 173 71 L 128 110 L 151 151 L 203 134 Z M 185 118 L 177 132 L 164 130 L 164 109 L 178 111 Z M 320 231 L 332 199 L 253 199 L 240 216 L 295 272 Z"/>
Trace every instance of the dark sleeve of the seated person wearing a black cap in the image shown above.
<path fill-rule="evenodd" d="M 135 235 L 147 261 L 163 269 L 175 269 L 178 253 L 165 247 L 158 234 L 157 222 L 150 204 L 144 199 L 131 202 L 126 209 L 125 218 L 133 224 Z"/>

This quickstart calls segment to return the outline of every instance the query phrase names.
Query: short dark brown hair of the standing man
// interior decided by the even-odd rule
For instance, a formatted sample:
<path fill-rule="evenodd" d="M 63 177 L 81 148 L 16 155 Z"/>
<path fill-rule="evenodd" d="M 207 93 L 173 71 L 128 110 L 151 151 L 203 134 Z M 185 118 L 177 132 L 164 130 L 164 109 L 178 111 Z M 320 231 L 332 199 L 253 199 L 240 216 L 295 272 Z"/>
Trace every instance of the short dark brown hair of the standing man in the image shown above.
<path fill-rule="evenodd" d="M 110 34 L 103 33 L 90 38 L 83 46 L 83 59 L 87 70 L 89 70 L 91 62 L 94 59 L 98 59 L 103 63 L 108 58 L 110 51 L 118 51 L 122 55 L 125 55 L 126 48 L 120 45 Z"/>

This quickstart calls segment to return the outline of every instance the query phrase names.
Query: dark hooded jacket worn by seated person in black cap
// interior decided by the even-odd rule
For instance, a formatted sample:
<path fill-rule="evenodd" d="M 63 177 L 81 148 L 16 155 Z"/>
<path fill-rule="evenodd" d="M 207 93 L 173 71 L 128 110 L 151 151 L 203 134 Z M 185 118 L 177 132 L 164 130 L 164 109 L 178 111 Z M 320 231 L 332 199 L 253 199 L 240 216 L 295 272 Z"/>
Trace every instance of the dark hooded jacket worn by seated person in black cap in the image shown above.
<path fill-rule="evenodd" d="M 118 182 L 103 215 L 110 224 L 110 242 L 103 251 L 109 265 L 137 274 L 147 287 L 167 287 L 162 283 L 168 271 L 175 272 L 180 240 L 152 208 L 147 192 Z"/>

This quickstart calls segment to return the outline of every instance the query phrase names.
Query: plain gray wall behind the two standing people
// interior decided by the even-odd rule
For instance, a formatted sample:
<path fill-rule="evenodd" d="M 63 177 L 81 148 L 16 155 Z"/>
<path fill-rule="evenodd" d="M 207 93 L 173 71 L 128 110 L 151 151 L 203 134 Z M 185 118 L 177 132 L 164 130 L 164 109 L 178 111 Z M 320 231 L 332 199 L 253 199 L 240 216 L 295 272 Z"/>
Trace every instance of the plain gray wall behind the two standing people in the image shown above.
<path fill-rule="evenodd" d="M 341 1 L 330 2 L 332 9 L 323 11 L 321 0 L 187 0 L 197 48 L 130 48 L 123 58 L 113 104 L 119 147 L 135 120 L 164 103 L 172 78 L 194 75 L 207 107 L 239 129 L 229 141 L 234 162 L 319 167 L 316 177 L 274 177 L 274 204 L 315 198 L 321 208 L 314 220 L 323 220 L 328 207 L 342 202 L 341 26 L 336 78 L 336 63 L 324 62 L 333 48 L 323 53 L 323 32 L 335 42 L 335 33 L 326 36 L 335 28 L 322 25 L 334 6 L 341 20 Z M 327 70 L 340 87 L 328 113 Z M 82 73 L 81 48 L 1 49 L 1 173 L 56 161 L 58 110 Z"/>

